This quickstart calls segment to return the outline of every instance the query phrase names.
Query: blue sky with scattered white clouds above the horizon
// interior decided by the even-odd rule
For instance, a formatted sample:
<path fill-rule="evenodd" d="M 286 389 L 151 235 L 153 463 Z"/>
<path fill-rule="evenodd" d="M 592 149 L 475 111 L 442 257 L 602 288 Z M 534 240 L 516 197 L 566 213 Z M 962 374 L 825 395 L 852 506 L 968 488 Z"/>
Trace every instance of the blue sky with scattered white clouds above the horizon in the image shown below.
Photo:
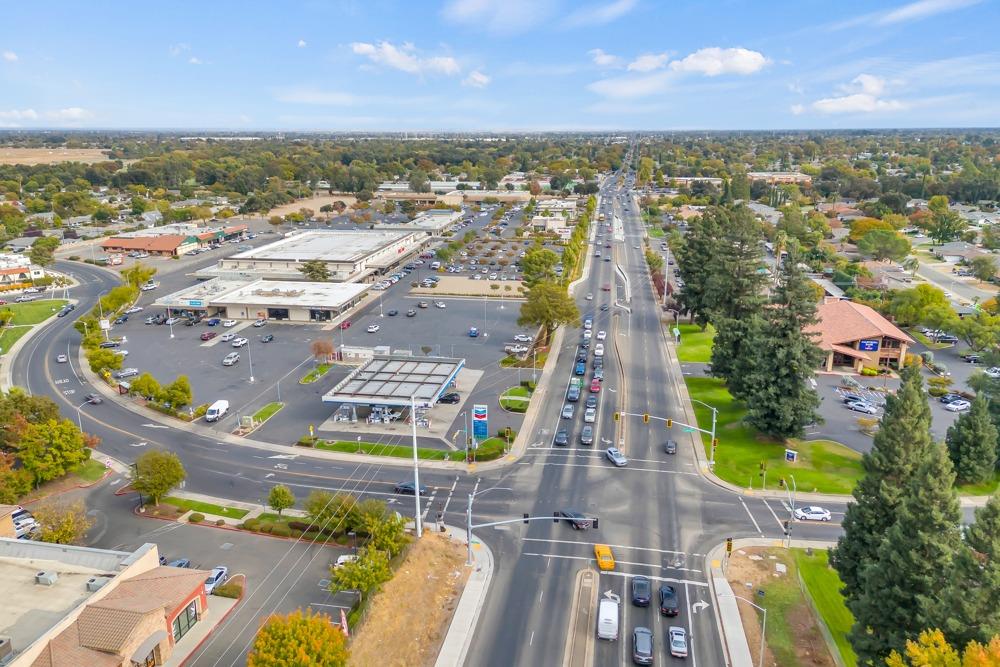
<path fill-rule="evenodd" d="M 16 3 L 0 127 L 997 126 L 998 2 Z"/>

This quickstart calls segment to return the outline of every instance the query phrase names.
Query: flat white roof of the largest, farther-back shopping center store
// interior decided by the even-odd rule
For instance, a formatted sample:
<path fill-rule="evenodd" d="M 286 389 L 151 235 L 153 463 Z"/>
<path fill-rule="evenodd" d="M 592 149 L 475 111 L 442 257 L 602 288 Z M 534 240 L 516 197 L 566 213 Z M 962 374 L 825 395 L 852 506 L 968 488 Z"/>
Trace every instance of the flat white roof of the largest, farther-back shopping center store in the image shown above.
<path fill-rule="evenodd" d="M 274 262 L 359 262 L 415 232 L 401 230 L 310 230 L 228 257 Z"/>

